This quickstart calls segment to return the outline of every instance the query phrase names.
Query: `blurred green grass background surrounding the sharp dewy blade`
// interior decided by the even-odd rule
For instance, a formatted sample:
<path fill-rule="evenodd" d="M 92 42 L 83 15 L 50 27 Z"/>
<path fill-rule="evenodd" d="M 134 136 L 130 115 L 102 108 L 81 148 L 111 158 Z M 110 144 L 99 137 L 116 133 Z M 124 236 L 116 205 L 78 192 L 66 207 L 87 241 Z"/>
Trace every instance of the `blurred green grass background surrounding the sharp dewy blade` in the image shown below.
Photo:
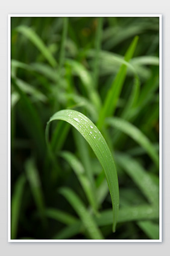
<path fill-rule="evenodd" d="M 61 109 L 86 115 L 112 151 L 114 233 L 104 172 L 84 138 L 53 122 L 49 155 L 46 123 Z M 159 18 L 11 18 L 11 239 L 24 238 L 159 239 Z"/>

